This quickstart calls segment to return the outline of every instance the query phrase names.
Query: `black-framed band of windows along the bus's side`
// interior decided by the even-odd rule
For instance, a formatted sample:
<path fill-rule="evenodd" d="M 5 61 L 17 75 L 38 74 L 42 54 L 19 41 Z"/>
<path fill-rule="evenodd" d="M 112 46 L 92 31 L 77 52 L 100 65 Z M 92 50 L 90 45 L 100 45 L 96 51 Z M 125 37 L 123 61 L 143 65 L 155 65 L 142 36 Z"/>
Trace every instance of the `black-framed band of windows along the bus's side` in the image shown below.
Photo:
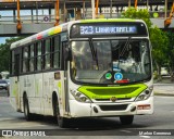
<path fill-rule="evenodd" d="M 63 46 L 64 36 L 62 34 L 67 34 L 67 31 L 63 31 L 44 39 L 35 40 L 29 43 L 25 43 L 23 46 L 18 46 L 17 48 L 11 49 L 11 75 L 14 75 L 14 54 L 20 53 L 20 75 L 26 74 L 35 74 L 42 73 L 49 71 L 63 71 L 64 68 L 64 59 L 63 59 Z M 49 51 L 46 48 L 46 41 L 49 40 Z M 39 45 L 39 48 L 38 48 Z M 57 49 L 58 48 L 58 49 Z M 26 49 L 26 50 L 25 50 Z M 24 51 L 27 51 L 27 55 L 25 58 Z M 38 53 L 39 52 L 39 53 Z M 46 67 L 46 56 L 49 55 L 49 67 Z M 40 68 L 38 68 L 38 59 L 40 59 Z M 25 63 L 24 63 L 25 61 Z M 33 68 L 30 68 L 30 61 L 33 61 Z M 55 65 L 57 63 L 57 65 Z M 26 70 L 24 70 L 24 64 L 26 65 Z"/>

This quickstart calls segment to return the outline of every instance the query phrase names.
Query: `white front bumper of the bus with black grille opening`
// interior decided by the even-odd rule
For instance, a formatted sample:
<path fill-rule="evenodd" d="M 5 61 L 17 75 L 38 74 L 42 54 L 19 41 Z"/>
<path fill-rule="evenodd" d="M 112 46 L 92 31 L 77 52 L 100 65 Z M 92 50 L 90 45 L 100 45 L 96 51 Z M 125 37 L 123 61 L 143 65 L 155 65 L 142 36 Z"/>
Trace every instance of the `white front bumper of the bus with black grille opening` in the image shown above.
<path fill-rule="evenodd" d="M 146 106 L 148 105 L 148 106 Z M 140 108 L 140 109 L 139 109 Z M 144 108 L 144 109 L 141 109 Z M 111 102 L 111 103 L 80 103 L 70 100 L 71 117 L 141 115 L 153 113 L 153 97 L 144 101 Z"/>

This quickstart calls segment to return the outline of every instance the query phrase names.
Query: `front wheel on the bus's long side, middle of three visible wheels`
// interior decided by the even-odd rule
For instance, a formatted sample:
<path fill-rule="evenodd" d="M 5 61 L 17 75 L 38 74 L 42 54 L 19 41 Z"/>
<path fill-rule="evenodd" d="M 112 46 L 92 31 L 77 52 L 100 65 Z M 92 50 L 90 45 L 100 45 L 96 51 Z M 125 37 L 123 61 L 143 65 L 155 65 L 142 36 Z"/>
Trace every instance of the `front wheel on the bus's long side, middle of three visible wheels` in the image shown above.
<path fill-rule="evenodd" d="M 58 101 L 57 101 L 57 103 L 55 103 L 55 114 L 57 114 L 57 122 L 58 122 L 59 127 L 61 127 L 61 128 L 67 127 L 67 118 L 62 117 L 62 116 L 60 115 L 60 109 L 59 109 L 59 103 L 58 103 Z"/>

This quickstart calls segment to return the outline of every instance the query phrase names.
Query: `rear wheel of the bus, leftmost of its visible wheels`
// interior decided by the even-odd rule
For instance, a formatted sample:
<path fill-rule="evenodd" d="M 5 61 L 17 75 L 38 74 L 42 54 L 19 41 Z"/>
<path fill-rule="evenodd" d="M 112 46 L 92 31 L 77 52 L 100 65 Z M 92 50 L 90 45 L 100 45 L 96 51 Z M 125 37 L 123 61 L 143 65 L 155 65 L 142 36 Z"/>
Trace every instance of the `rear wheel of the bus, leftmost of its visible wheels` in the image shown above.
<path fill-rule="evenodd" d="M 28 99 L 26 97 L 24 98 L 24 116 L 25 116 L 26 121 L 32 119 L 32 114 L 29 113 Z"/>

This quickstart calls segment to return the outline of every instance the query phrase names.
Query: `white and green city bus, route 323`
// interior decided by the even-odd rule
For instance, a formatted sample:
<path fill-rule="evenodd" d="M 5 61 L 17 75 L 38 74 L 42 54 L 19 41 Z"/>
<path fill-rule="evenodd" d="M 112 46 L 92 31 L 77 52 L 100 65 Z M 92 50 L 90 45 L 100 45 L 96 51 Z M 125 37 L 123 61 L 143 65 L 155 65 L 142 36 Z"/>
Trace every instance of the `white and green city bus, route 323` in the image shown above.
<path fill-rule="evenodd" d="M 149 33 L 140 20 L 69 22 L 11 45 L 10 100 L 27 121 L 153 113 Z"/>

